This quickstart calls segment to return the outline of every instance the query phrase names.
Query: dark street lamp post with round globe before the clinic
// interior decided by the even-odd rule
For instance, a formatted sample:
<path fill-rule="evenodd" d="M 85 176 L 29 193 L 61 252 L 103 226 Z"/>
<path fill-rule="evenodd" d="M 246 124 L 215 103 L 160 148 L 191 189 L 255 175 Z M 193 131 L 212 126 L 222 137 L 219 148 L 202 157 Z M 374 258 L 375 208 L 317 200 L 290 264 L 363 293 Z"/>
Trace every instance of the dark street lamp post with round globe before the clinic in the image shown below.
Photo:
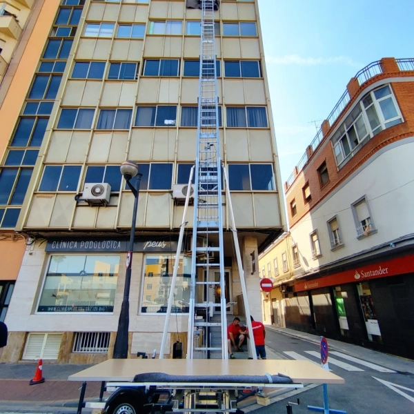
<path fill-rule="evenodd" d="M 117 338 L 115 339 L 113 358 L 127 358 L 128 357 L 128 327 L 129 327 L 129 291 L 131 284 L 131 266 L 132 266 L 132 252 L 134 250 L 134 236 L 135 236 L 135 223 L 137 221 L 137 209 L 138 209 L 138 195 L 139 184 L 141 184 L 142 174 L 138 172 L 138 164 L 134 161 L 124 161 L 121 164 L 121 174 L 126 180 L 126 184 L 132 191 L 135 197 L 134 210 L 132 211 L 132 224 L 130 234 L 130 245 L 128 255 L 126 257 L 126 274 L 125 274 L 125 286 L 124 286 L 124 299 L 122 300 L 121 314 L 119 315 Z M 130 183 L 132 177 L 137 177 L 137 184 L 135 187 Z"/>

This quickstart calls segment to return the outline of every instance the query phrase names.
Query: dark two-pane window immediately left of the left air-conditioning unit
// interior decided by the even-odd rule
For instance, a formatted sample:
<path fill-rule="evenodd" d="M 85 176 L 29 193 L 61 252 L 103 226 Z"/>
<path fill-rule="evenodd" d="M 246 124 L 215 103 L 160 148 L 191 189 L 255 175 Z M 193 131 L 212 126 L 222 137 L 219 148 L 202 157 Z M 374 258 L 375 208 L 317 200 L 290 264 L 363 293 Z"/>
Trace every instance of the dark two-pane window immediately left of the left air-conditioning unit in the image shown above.
<path fill-rule="evenodd" d="M 45 166 L 39 191 L 76 191 L 81 166 Z"/>

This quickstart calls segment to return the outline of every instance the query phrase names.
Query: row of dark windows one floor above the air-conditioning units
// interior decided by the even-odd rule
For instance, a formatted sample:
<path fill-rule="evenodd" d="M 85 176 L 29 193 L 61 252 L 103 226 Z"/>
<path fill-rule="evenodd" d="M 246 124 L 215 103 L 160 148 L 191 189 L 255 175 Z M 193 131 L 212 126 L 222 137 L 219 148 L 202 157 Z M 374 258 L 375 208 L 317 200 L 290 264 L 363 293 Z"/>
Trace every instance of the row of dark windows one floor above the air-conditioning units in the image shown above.
<path fill-rule="evenodd" d="M 214 107 L 206 107 L 213 110 Z M 62 108 L 57 129 L 91 129 L 95 116 L 95 108 Z M 181 126 L 197 126 L 197 106 L 181 107 Z M 264 106 L 234 106 L 226 107 L 228 128 L 267 128 L 266 107 Z M 33 122 L 34 118 L 21 118 L 19 126 Z M 132 109 L 101 109 L 96 129 L 103 130 L 128 130 L 132 119 Z M 174 127 L 177 121 L 177 106 L 137 106 L 133 126 L 166 126 Z M 221 126 L 221 107 L 219 107 L 219 126 Z M 215 126 L 214 119 L 203 119 L 203 125 Z M 22 130 L 22 137 L 14 135 L 12 146 L 17 146 L 17 140 L 28 141 L 30 134 L 28 128 Z M 23 145 L 21 145 L 23 146 Z"/>

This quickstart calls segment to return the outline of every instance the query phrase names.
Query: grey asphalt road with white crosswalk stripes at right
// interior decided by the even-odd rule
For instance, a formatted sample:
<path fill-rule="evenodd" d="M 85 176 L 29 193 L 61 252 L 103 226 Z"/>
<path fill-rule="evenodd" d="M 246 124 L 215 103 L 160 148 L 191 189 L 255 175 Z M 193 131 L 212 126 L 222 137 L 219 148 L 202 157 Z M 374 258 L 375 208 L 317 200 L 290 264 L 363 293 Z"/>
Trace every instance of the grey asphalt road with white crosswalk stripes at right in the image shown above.
<path fill-rule="evenodd" d="M 285 330 L 286 331 L 286 330 Z M 293 331 L 291 331 L 293 332 Z M 271 353 L 284 359 L 310 359 L 320 364 L 317 337 L 302 335 L 292 337 L 267 330 L 266 345 Z M 331 343 L 331 341 L 328 341 Z M 329 368 L 346 380 L 344 385 L 328 386 L 330 408 L 344 410 L 348 414 L 409 414 L 414 413 L 414 362 L 367 350 L 359 346 L 332 341 Z M 322 406 L 322 386 L 298 390 L 297 395 L 280 399 L 263 408 L 255 406 L 255 414 L 286 413 L 286 403 L 296 402 L 294 414 L 311 413 L 307 406 Z M 253 407 L 252 407 L 253 408 Z M 246 410 L 250 411 L 250 410 Z"/>

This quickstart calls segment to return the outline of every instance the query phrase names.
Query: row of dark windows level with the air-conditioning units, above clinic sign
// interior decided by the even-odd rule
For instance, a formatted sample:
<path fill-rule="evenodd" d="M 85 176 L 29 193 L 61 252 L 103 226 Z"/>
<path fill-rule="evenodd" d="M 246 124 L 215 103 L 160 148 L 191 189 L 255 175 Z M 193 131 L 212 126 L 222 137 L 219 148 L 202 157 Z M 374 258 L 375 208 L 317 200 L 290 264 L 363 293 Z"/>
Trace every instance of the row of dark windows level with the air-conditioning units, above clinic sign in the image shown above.
<path fill-rule="evenodd" d="M 173 164 L 154 163 L 138 165 L 139 172 L 143 175 L 140 184 L 141 190 L 171 189 Z M 188 184 L 192 166 L 193 164 L 178 164 L 177 184 Z M 79 177 L 81 177 L 81 170 L 82 166 L 79 165 L 45 166 L 38 190 L 63 192 L 76 191 L 79 184 Z M 2 177 L 2 175 L 0 175 L 0 177 Z M 228 164 L 228 177 L 230 190 L 275 190 L 275 178 L 273 166 L 271 164 Z M 88 166 L 86 168 L 84 182 L 108 183 L 110 184 L 112 191 L 120 191 L 122 176 L 119 166 Z M 11 187 L 8 191 L 5 190 L 3 195 L 4 199 L 6 199 L 6 197 L 8 197 L 8 199 L 12 197 L 11 191 Z"/>

